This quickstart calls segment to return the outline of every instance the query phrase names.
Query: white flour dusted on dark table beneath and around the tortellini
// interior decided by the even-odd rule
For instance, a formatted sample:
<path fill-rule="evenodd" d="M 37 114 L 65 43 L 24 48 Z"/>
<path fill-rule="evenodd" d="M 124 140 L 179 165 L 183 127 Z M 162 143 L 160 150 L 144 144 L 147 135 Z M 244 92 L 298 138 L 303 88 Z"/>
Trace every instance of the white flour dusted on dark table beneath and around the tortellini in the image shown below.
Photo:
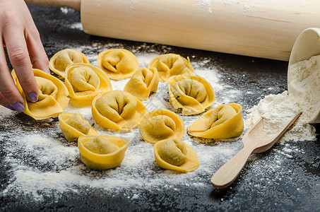
<path fill-rule="evenodd" d="M 96 48 L 95 52 L 90 50 L 92 46 L 75 47 L 75 49 L 83 52 L 95 66 L 97 66 L 97 52 L 122 47 L 117 44 L 94 44 L 93 46 Z M 170 51 L 170 48 L 167 49 Z M 148 66 L 150 61 L 159 55 L 158 52 L 134 53 L 140 66 Z M 237 98 L 241 98 L 239 90 L 220 82 L 218 70 L 214 66 L 208 67 L 209 61 L 210 59 L 204 59 L 192 62 L 192 65 L 194 73 L 206 78 L 213 86 L 216 93 L 216 102 L 213 107 L 234 101 L 232 98 L 236 97 L 236 93 Z M 113 89 L 123 90 L 128 80 L 111 81 Z M 217 95 L 219 92 L 224 95 Z M 175 111 L 168 98 L 167 83 L 160 82 L 158 92 L 152 93 L 147 100 L 143 100 L 143 104 L 149 111 L 158 109 Z M 209 179 L 213 170 L 218 170 L 222 163 L 232 158 L 242 147 L 239 138 L 232 140 L 233 142 L 201 143 L 185 134 L 183 141 L 198 153 L 201 165 L 194 172 L 180 174 L 158 167 L 153 155 L 153 146 L 141 139 L 138 128 L 129 133 L 104 129 L 95 124 L 90 105 L 77 107 L 69 103 L 66 112 L 83 114 L 85 119 L 95 126 L 98 134 L 114 134 L 131 140 L 122 164 L 112 170 L 88 170 L 78 156 L 76 142 L 68 142 L 64 139 L 57 119 L 49 123 L 44 121 L 42 124 L 37 124 L 39 122 L 31 118 L 27 121 L 20 120 L 20 114 L 1 107 L 0 119 L 6 120 L 1 123 L 1 126 L 10 129 L 10 136 L 0 134 L 0 141 L 5 141 L 1 148 L 6 152 L 5 164 L 10 167 L 8 169 L 10 181 L 4 191 L 0 192 L 0 196 L 20 194 L 43 201 L 45 196 L 59 197 L 64 192 L 80 192 L 83 188 L 97 188 L 112 194 L 122 194 L 123 189 L 128 189 L 132 194 L 128 198 L 138 199 L 144 195 L 143 191 L 150 188 L 162 190 L 177 189 L 177 187 L 212 187 Z M 199 116 L 180 115 L 185 126 L 189 126 Z M 11 129 L 11 126 L 16 128 Z M 21 139 L 22 135 L 23 139 Z"/>

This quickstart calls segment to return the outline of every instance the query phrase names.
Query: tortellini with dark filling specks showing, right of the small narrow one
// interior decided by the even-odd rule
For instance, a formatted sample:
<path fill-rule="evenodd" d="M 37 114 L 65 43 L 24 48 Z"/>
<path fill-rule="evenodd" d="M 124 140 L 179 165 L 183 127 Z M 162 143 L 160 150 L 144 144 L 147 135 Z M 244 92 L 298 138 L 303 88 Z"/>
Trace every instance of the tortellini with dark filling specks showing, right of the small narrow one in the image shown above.
<path fill-rule="evenodd" d="M 212 86 L 201 76 L 172 76 L 168 90 L 170 104 L 182 108 L 182 115 L 204 112 L 215 101 Z"/>

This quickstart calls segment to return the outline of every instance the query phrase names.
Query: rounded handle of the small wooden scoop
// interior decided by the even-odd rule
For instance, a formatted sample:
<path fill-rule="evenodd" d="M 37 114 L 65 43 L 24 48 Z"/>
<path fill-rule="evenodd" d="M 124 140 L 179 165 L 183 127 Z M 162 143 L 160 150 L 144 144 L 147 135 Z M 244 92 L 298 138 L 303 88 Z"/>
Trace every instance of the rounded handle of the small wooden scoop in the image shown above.
<path fill-rule="evenodd" d="M 232 184 L 239 175 L 239 172 L 241 172 L 253 150 L 254 148 L 251 146 L 244 146 L 239 153 L 220 167 L 220 169 L 218 169 L 218 171 L 216 171 L 211 177 L 211 183 L 213 186 L 216 189 L 224 189 L 230 186 L 230 184 Z"/>

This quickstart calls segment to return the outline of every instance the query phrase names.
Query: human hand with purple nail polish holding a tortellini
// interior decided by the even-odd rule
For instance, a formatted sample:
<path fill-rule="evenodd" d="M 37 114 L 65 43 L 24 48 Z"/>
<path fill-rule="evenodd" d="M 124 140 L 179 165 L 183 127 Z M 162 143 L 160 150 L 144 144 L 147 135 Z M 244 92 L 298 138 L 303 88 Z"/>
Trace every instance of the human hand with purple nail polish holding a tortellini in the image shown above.
<path fill-rule="evenodd" d="M 0 36 L 0 105 L 22 112 L 25 108 L 24 99 L 11 77 L 4 47 L 19 83 L 31 102 L 37 101 L 39 94 L 32 66 L 49 73 L 47 54 L 23 0 L 0 0 Z"/>

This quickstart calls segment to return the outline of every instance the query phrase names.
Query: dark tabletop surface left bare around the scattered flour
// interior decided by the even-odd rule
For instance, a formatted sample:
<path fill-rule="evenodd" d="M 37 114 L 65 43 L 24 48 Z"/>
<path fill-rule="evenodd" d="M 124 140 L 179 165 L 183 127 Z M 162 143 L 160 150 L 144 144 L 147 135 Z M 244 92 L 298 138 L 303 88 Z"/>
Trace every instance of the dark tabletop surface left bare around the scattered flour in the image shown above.
<path fill-rule="evenodd" d="M 28 6 L 49 58 L 66 47 L 108 42 L 140 53 L 161 54 L 165 49 L 162 45 L 95 37 L 78 28 L 70 28 L 70 25 L 80 22 L 78 11 L 68 10 L 64 13 L 59 7 Z M 211 58 L 208 66 L 218 68 L 222 81 L 228 81 L 238 90 L 256 90 L 237 99 L 243 106 L 244 114 L 264 95 L 281 93 L 287 89 L 288 63 L 285 61 L 179 47 L 170 47 L 170 51 L 184 57 L 194 55 L 194 59 L 199 61 Z M 273 89 L 268 89 L 270 87 Z M 319 125 L 316 129 L 319 131 Z M 8 130 L 8 126 L 0 123 L 0 134 L 7 134 Z M 141 198 L 133 200 L 126 199 L 121 193 L 112 195 L 103 189 L 81 187 L 78 192 L 65 192 L 58 197 L 52 194 L 52 197 L 42 201 L 34 201 L 23 194 L 3 195 L 1 192 L 11 179 L 11 167 L 6 165 L 6 152 L 1 148 L 5 142 L 6 139 L 0 140 L 0 211 L 320 211 L 319 136 L 317 141 L 288 141 L 290 148 L 300 149 L 291 153 L 291 158 L 278 155 L 278 151 L 285 148 L 278 143 L 270 151 L 255 155 L 232 187 L 223 191 L 213 189 L 210 183 L 204 188 L 192 189 L 178 185 L 176 189 L 162 191 L 153 188 L 142 190 Z M 281 160 L 280 171 L 273 169 L 275 155 Z M 263 175 L 256 171 L 257 167 L 263 167 Z M 263 179 L 265 173 L 268 173 L 269 180 Z M 202 177 L 208 182 L 211 176 Z M 256 186 L 252 187 L 252 184 Z M 132 192 L 126 190 L 124 193 Z"/>

